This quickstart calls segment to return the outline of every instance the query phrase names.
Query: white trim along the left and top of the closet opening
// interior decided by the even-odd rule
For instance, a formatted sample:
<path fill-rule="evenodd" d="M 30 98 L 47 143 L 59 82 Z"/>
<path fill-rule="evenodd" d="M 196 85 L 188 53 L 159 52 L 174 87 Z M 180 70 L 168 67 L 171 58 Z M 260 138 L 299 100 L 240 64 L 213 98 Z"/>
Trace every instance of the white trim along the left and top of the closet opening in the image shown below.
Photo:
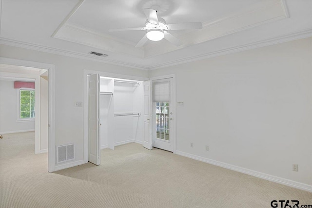
<path fill-rule="evenodd" d="M 148 77 L 120 75 L 108 72 L 101 72 L 95 70 L 83 69 L 83 161 L 88 162 L 88 92 L 87 92 L 87 75 L 98 74 L 99 76 L 119 78 L 119 79 L 132 79 L 137 81 L 146 81 Z"/>

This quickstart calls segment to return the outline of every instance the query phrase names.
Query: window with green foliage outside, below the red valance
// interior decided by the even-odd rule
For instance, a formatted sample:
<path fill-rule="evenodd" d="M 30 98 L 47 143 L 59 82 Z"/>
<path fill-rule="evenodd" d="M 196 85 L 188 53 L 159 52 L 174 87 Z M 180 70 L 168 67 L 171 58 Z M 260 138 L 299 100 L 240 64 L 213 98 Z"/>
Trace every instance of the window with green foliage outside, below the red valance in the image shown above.
<path fill-rule="evenodd" d="M 35 117 L 35 91 L 20 89 L 20 119 Z"/>

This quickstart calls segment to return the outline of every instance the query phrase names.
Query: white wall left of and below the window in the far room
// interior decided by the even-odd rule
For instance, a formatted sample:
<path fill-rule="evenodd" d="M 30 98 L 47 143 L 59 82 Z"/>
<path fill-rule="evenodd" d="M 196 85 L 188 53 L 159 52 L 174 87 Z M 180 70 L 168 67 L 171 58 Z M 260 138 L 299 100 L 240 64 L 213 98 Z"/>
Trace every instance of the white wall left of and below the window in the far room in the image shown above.
<path fill-rule="evenodd" d="M 0 80 L 0 133 L 35 131 L 35 120 L 17 121 L 14 81 Z"/>

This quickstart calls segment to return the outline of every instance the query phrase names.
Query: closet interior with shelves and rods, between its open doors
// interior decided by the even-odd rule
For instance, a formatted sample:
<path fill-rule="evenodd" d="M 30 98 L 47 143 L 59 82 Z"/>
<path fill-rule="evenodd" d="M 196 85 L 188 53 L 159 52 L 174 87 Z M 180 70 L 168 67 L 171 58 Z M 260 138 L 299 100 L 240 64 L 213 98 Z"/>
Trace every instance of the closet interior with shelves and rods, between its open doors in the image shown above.
<path fill-rule="evenodd" d="M 142 81 L 100 76 L 100 148 L 143 140 Z"/>

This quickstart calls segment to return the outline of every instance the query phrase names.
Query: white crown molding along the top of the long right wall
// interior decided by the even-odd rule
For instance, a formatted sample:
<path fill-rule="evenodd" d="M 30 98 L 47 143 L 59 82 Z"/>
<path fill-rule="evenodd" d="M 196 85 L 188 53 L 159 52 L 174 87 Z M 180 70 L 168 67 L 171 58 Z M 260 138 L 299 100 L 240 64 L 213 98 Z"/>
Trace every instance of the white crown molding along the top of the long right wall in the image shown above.
<path fill-rule="evenodd" d="M 171 62 L 156 65 L 154 67 L 150 67 L 149 69 L 150 70 L 161 69 L 161 68 L 165 68 L 165 67 L 175 66 L 175 65 L 193 62 L 193 61 L 197 61 L 197 60 L 202 60 L 202 59 L 206 59 L 206 58 L 218 57 L 218 56 L 223 56 L 223 55 L 227 55 L 227 54 L 233 54 L 236 52 L 251 50 L 251 49 L 255 49 L 255 48 L 260 48 L 260 47 L 264 47 L 264 46 L 269 46 L 269 45 L 274 45 L 274 44 L 278 44 L 278 43 L 288 42 L 288 41 L 292 41 L 292 40 L 296 40 L 296 39 L 309 38 L 309 37 L 312 37 L 312 28 L 308 28 L 305 30 L 301 30 L 299 32 L 290 33 L 290 34 L 286 34 L 286 35 L 282 35 L 282 36 L 277 36 L 274 38 L 256 41 L 256 42 L 245 44 L 245 45 L 227 48 L 224 50 L 219 50 L 219 51 L 207 53 L 204 55 L 198 55 L 198 56 L 189 57 L 189 58 L 181 58 L 181 59 L 178 59 L 175 61 L 171 61 Z"/>

